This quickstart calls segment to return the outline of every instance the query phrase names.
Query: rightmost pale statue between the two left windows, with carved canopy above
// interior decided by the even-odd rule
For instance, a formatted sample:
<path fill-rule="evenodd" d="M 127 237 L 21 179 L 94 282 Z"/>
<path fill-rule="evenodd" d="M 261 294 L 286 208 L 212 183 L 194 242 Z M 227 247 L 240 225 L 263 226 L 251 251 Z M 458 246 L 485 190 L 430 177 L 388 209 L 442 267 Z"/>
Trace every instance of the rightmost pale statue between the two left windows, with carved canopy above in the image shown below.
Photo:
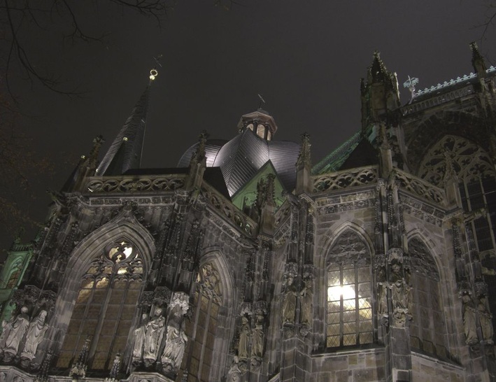
<path fill-rule="evenodd" d="M 167 337 L 162 354 L 162 367 L 165 372 L 177 372 L 183 362 L 187 342 L 184 316 L 189 308 L 188 298 L 185 293 L 175 293 L 171 302 Z"/>

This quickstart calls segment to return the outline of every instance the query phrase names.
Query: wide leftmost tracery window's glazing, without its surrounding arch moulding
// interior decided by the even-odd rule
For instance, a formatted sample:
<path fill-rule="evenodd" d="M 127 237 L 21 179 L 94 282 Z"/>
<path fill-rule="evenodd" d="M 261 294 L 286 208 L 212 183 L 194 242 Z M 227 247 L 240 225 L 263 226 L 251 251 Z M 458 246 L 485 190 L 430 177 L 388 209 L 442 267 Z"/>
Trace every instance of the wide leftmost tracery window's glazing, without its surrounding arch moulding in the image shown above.
<path fill-rule="evenodd" d="M 125 350 L 143 281 L 139 253 L 126 241 L 108 246 L 94 260 L 80 284 L 57 367 L 69 367 L 85 339 L 91 339 L 90 369 L 112 367 Z"/>

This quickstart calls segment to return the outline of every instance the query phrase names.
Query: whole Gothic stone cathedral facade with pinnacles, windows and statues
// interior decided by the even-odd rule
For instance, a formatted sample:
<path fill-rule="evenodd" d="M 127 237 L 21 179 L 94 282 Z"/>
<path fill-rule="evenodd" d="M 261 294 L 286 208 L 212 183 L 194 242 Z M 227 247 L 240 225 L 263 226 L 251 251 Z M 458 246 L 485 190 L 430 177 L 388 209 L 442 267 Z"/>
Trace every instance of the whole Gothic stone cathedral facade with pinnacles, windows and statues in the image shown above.
<path fill-rule="evenodd" d="M 239 157 L 201 134 L 187 168 L 120 169 L 140 104 L 11 251 L 0 381 L 496 380 L 496 69 L 472 62 L 401 106 L 374 54 L 362 132 L 313 173 L 309 136 L 269 142 L 261 109 Z M 256 164 L 265 148 L 283 154 Z"/>

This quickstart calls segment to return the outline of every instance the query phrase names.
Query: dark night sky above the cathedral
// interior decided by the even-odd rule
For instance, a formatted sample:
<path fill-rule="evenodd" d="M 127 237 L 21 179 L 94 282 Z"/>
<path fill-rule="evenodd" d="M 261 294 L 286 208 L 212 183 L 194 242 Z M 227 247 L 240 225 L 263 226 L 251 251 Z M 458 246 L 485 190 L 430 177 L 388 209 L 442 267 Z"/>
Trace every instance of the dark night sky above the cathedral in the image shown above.
<path fill-rule="evenodd" d="M 153 84 L 143 167 L 174 167 L 203 129 L 211 138 L 232 138 L 241 115 L 257 108 L 257 93 L 276 120 L 276 139 L 299 141 L 309 132 L 316 163 L 360 129 L 360 78 L 374 50 L 397 72 L 403 103 L 407 76 L 418 77 L 423 89 L 472 71 L 470 41 L 496 59 L 495 27 L 483 40 L 476 27 L 490 1 L 237 2 L 225 11 L 213 0 L 180 0 L 161 29 L 103 0 L 84 2 L 80 27 L 105 34 L 103 43 L 62 43 L 57 19 L 51 31 L 26 32 L 38 67 L 57 73 L 62 87 L 83 92 L 64 97 L 12 79 L 31 115 L 20 128 L 38 155 L 55 162 L 53 176 L 34 177 L 36 199 L 25 203 L 34 218 L 43 221 L 44 190 L 62 187 L 94 136 L 111 143 L 157 54 L 163 67 Z M 11 237 L 0 239 L 5 247 Z"/>

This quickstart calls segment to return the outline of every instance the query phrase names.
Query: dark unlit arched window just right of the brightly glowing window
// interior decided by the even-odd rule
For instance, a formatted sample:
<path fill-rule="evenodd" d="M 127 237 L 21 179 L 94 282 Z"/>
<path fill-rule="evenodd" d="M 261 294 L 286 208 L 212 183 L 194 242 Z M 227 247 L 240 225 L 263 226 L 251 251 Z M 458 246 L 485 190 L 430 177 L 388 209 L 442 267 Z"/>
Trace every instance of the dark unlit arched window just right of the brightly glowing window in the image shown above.
<path fill-rule="evenodd" d="M 430 250 L 418 237 L 409 240 L 413 320 L 409 323 L 411 347 L 447 358 L 446 327 L 441 309 L 439 272 Z"/>

